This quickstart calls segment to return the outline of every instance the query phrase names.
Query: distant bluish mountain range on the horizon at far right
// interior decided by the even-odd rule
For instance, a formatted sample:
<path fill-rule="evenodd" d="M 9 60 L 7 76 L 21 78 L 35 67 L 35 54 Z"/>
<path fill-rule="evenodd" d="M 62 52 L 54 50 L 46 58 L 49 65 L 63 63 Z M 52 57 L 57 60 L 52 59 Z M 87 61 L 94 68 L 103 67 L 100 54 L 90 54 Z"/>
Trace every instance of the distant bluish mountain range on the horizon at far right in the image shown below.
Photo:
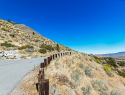
<path fill-rule="evenodd" d="M 125 51 L 124 52 L 118 52 L 118 53 L 97 54 L 96 56 L 99 56 L 99 57 L 103 57 L 103 56 L 125 57 Z"/>

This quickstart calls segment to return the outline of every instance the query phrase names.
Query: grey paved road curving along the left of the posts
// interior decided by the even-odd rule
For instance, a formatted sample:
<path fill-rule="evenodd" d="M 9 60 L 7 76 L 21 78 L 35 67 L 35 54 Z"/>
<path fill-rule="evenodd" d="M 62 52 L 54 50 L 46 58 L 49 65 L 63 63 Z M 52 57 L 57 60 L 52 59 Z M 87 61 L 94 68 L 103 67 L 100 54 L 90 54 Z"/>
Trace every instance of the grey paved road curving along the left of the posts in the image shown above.
<path fill-rule="evenodd" d="M 23 60 L 0 60 L 0 95 L 10 95 L 20 80 L 46 57 Z"/>

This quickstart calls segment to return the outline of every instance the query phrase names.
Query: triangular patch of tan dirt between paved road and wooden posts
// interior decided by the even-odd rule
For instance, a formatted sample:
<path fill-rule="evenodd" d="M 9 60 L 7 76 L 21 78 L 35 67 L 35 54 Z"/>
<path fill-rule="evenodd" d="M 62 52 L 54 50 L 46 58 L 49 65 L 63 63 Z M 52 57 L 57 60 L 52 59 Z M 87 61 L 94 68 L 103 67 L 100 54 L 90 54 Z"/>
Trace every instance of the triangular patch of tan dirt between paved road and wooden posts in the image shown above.
<path fill-rule="evenodd" d="M 38 95 L 36 83 L 38 83 L 38 69 L 35 68 L 20 81 L 10 95 Z"/>

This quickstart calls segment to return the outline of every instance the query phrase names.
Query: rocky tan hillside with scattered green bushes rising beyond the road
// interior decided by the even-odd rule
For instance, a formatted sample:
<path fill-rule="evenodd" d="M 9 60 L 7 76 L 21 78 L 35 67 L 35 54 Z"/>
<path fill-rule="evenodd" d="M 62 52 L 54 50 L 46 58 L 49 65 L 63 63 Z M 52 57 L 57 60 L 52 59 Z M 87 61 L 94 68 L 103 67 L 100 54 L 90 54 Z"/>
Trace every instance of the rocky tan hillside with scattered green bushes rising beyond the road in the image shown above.
<path fill-rule="evenodd" d="M 43 53 L 40 53 L 39 50 L 43 48 L 46 51 L 44 54 L 57 52 L 56 42 L 42 36 L 24 24 L 8 22 L 3 19 L 0 19 L 0 43 L 3 43 L 0 49 L 18 50 L 30 57 L 33 55 L 41 56 Z M 64 45 L 59 44 L 59 47 L 60 51 L 71 51 L 70 48 Z"/>

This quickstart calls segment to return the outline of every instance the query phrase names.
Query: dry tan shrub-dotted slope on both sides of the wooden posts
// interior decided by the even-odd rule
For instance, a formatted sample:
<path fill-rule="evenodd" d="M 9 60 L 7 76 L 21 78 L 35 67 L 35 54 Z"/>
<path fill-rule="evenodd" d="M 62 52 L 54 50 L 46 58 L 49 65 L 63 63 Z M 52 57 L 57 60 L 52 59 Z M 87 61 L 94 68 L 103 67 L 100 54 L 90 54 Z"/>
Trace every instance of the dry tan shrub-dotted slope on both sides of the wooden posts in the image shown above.
<path fill-rule="evenodd" d="M 108 65 L 97 63 L 100 61 L 96 58 L 74 52 L 51 61 L 45 69 L 49 95 L 125 95 L 125 76 L 110 71 Z M 11 95 L 38 95 L 35 85 L 38 73 L 39 67 L 27 74 Z"/>

